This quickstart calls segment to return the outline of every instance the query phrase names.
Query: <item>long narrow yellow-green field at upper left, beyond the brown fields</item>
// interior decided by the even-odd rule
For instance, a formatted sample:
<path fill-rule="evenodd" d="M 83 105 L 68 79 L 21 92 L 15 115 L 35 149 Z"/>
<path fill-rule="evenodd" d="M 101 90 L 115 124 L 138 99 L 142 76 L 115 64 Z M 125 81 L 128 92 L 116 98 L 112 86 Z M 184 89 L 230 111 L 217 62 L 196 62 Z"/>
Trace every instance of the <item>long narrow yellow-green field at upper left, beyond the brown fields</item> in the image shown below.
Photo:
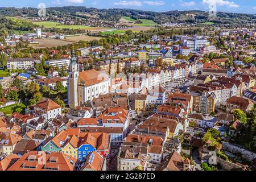
<path fill-rule="evenodd" d="M 69 29 L 82 29 L 82 30 L 90 30 L 90 31 L 102 31 L 108 30 L 109 28 L 106 27 L 89 27 L 83 25 L 65 25 L 56 22 L 32 22 L 40 27 L 44 28 L 69 28 Z"/>

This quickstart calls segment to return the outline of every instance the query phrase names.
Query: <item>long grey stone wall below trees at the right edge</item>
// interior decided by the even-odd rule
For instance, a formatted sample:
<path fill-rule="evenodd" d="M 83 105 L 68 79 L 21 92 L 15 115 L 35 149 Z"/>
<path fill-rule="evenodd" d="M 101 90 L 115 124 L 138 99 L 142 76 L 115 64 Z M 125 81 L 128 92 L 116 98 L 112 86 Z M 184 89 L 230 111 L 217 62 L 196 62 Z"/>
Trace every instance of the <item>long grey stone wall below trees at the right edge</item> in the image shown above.
<path fill-rule="evenodd" d="M 251 160 L 256 158 L 256 154 L 254 152 L 246 150 L 245 148 L 234 146 L 233 144 L 230 144 L 228 142 L 222 143 L 222 150 L 232 152 L 233 154 L 240 153 L 242 155 L 242 158 L 247 160 L 248 162 L 251 162 Z"/>

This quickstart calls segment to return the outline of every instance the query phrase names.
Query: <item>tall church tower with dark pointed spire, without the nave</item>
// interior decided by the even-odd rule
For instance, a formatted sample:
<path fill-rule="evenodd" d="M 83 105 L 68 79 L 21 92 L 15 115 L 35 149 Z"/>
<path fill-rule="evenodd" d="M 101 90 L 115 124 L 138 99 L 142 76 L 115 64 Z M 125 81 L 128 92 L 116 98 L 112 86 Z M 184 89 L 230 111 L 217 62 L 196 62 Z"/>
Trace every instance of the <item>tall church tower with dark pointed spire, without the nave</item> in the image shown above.
<path fill-rule="evenodd" d="M 78 64 L 76 62 L 75 51 L 73 48 L 71 63 L 69 64 L 68 72 L 68 105 L 70 108 L 76 108 L 78 106 L 77 97 L 77 84 L 78 84 Z"/>

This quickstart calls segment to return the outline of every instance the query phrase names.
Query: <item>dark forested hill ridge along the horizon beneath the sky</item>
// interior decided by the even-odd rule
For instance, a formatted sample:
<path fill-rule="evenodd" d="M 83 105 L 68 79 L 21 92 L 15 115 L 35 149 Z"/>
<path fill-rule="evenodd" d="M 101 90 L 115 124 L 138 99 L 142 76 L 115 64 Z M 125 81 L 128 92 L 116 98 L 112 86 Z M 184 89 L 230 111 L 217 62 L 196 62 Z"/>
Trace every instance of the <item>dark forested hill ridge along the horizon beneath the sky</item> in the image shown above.
<path fill-rule="evenodd" d="M 38 9 L 23 8 L 16 9 L 15 7 L 8 7 L 0 9 L 0 15 L 5 16 L 20 16 L 22 14 L 30 16 L 38 16 Z M 118 21 L 121 16 L 129 16 L 133 19 L 150 19 L 158 24 L 167 22 L 177 23 L 238 23 L 243 24 L 247 22 L 256 23 L 256 16 L 241 13 L 223 13 L 217 12 L 217 18 L 209 19 L 208 11 L 192 10 L 192 11 L 167 11 L 167 12 L 153 12 L 134 9 L 96 9 L 85 6 L 64 6 L 64 7 L 49 7 L 47 8 L 47 15 L 75 15 L 81 18 L 88 18 L 82 14 L 97 15 L 102 20 Z"/>

